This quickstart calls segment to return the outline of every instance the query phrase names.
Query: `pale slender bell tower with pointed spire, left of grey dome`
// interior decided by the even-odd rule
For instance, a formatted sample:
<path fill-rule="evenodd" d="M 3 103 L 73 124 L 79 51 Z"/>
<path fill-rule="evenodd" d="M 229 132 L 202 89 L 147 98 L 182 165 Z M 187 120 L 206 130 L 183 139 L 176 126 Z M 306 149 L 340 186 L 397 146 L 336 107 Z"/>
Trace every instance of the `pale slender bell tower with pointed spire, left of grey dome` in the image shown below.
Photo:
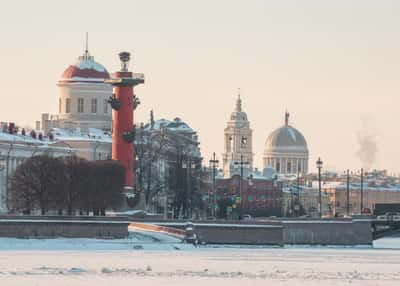
<path fill-rule="evenodd" d="M 230 178 L 233 174 L 239 173 L 241 162 L 247 170 L 253 168 L 252 133 L 247 114 L 242 111 L 242 100 L 239 93 L 235 111 L 231 113 L 224 130 L 222 158 L 225 178 Z"/>

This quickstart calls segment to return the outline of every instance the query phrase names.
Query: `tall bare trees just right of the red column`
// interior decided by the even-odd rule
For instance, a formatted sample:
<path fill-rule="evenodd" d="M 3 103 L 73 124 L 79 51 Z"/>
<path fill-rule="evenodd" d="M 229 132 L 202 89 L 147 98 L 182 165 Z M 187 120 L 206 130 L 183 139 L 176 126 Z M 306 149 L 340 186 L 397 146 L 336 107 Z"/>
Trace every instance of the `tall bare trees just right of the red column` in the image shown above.
<path fill-rule="evenodd" d="M 167 212 L 169 217 L 191 217 L 203 208 L 201 157 L 191 137 L 160 129 L 136 130 L 135 174 L 137 190 L 143 192 L 147 209 Z M 164 201 L 159 204 L 159 197 Z M 167 208 L 167 210 L 165 210 Z"/>

